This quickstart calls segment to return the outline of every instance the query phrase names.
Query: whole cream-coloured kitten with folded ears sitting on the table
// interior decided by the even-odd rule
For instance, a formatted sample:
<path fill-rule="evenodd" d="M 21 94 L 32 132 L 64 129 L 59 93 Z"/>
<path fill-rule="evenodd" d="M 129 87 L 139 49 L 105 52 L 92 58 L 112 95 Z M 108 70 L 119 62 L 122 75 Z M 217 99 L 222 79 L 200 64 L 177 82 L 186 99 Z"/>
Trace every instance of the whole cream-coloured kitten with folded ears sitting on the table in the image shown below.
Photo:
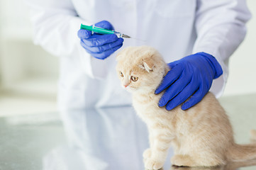
<path fill-rule="evenodd" d="M 228 116 L 210 92 L 196 106 L 167 111 L 157 106 L 155 95 L 169 67 L 152 47 L 127 47 L 117 56 L 117 73 L 126 90 L 133 92 L 133 106 L 148 125 L 150 148 L 143 153 L 146 169 L 160 169 L 167 150 L 177 166 L 218 166 L 256 159 L 256 145 L 237 145 Z M 131 76 L 138 80 L 131 80 Z"/>

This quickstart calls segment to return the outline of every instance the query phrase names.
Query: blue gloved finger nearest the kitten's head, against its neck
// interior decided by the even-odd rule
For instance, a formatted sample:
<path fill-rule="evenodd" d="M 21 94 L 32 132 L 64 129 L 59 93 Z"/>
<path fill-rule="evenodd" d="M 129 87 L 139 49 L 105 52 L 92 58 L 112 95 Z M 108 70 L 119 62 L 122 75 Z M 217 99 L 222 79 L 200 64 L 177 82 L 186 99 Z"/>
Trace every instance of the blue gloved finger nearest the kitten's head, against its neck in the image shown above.
<path fill-rule="evenodd" d="M 182 71 L 183 67 L 181 64 L 171 69 L 162 80 L 160 86 L 158 86 L 158 88 L 155 90 L 155 94 L 160 94 L 163 90 L 170 86 L 175 80 L 180 77 Z"/>

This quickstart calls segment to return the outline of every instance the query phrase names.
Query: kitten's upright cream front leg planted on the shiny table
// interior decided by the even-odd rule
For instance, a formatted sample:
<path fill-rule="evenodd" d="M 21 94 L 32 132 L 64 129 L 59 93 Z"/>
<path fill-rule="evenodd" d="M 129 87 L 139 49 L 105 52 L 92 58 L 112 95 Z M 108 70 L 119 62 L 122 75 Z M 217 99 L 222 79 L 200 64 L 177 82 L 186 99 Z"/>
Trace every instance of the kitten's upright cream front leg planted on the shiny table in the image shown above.
<path fill-rule="evenodd" d="M 153 135 L 150 149 L 144 152 L 144 154 L 150 154 L 148 159 L 144 159 L 146 169 L 160 169 L 165 164 L 168 149 L 172 141 L 172 137 L 167 134 L 168 132 L 165 130 L 160 130 Z"/>

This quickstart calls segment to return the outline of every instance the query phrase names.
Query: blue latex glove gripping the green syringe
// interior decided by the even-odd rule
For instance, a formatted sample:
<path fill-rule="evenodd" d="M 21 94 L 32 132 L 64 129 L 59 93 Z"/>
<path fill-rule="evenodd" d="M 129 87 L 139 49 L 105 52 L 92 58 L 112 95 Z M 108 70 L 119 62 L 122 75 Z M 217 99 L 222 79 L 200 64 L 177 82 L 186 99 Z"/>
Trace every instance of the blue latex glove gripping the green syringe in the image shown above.
<path fill-rule="evenodd" d="M 113 30 L 113 26 L 108 21 L 101 21 L 95 26 Z M 92 56 L 100 60 L 106 59 L 113 52 L 123 45 L 123 38 L 118 38 L 116 34 L 91 34 L 89 30 L 80 29 L 77 33 L 81 39 L 81 45 Z"/>

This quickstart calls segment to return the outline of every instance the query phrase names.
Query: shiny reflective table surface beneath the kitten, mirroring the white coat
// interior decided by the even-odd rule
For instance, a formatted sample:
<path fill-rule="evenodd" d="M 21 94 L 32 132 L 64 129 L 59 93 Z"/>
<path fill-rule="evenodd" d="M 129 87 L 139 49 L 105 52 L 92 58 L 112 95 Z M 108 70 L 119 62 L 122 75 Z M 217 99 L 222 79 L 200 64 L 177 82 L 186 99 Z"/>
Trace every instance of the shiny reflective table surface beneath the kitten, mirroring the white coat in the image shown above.
<path fill-rule="evenodd" d="M 250 129 L 256 129 L 256 94 L 220 101 L 236 142 L 248 143 Z M 140 170 L 148 148 L 147 128 L 131 107 L 4 117 L 0 136 L 0 170 Z M 220 169 L 237 169 L 232 166 Z M 169 158 L 164 169 L 189 170 L 171 166 Z M 256 166 L 239 169 L 255 170 Z"/>

